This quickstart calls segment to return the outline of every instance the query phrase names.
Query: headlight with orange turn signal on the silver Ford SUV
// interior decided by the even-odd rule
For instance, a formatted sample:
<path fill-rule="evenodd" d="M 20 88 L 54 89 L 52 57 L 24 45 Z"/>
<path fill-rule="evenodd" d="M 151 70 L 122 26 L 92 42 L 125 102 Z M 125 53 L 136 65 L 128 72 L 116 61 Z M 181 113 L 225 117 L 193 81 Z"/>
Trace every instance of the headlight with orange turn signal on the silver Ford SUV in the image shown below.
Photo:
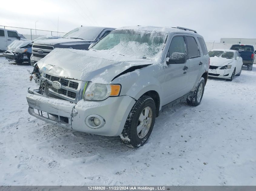
<path fill-rule="evenodd" d="M 84 100 L 102 101 L 110 96 L 118 96 L 121 90 L 119 84 L 92 84 L 85 91 Z"/>

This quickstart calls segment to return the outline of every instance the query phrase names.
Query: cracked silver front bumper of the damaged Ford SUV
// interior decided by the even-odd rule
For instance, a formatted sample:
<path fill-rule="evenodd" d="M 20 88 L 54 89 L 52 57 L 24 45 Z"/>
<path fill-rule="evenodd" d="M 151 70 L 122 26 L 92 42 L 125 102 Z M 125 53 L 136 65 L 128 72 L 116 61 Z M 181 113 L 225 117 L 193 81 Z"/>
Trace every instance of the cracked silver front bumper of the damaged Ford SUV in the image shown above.
<path fill-rule="evenodd" d="M 32 116 L 57 126 L 105 136 L 121 134 L 131 108 L 135 104 L 135 100 L 129 96 L 109 97 L 104 101 L 80 100 L 75 104 L 29 92 L 26 98 L 28 112 Z M 49 114 L 59 117 L 52 117 Z M 99 129 L 86 126 L 85 118 L 91 114 L 102 116 L 105 119 L 105 125 Z M 63 121 L 63 118 L 68 119 L 68 122 Z"/>

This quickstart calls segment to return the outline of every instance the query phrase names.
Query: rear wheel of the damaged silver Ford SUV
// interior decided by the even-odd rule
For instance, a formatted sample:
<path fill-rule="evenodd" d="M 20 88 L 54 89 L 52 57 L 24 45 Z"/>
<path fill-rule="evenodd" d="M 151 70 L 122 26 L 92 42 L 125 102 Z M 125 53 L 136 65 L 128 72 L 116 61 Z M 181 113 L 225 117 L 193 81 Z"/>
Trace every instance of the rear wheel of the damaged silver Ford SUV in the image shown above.
<path fill-rule="evenodd" d="M 204 78 L 201 77 L 195 88 L 193 96 L 187 98 L 188 105 L 198 106 L 201 103 L 201 100 L 204 95 L 204 86 L 205 86 Z"/>

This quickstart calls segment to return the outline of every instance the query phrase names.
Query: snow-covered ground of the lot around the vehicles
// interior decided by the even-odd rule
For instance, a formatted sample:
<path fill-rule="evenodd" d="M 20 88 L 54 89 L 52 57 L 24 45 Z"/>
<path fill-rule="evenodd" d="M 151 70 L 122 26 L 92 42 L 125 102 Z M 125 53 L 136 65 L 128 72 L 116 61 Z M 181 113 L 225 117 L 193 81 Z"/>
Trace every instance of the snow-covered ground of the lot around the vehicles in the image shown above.
<path fill-rule="evenodd" d="M 27 69 L 0 57 L 0 185 L 256 185 L 256 65 L 161 113 L 138 149 L 30 116 Z"/>

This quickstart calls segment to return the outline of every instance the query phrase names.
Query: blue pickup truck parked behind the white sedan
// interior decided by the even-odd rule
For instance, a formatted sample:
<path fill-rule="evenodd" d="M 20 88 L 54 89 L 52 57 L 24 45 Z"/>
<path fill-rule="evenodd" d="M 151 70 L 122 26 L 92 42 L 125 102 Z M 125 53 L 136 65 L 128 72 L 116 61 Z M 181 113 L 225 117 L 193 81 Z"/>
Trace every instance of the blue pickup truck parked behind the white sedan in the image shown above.
<path fill-rule="evenodd" d="M 238 51 L 243 59 L 243 65 L 246 65 L 248 70 L 252 70 L 254 55 L 256 54 L 252 45 L 233 44 L 230 49 Z"/>

